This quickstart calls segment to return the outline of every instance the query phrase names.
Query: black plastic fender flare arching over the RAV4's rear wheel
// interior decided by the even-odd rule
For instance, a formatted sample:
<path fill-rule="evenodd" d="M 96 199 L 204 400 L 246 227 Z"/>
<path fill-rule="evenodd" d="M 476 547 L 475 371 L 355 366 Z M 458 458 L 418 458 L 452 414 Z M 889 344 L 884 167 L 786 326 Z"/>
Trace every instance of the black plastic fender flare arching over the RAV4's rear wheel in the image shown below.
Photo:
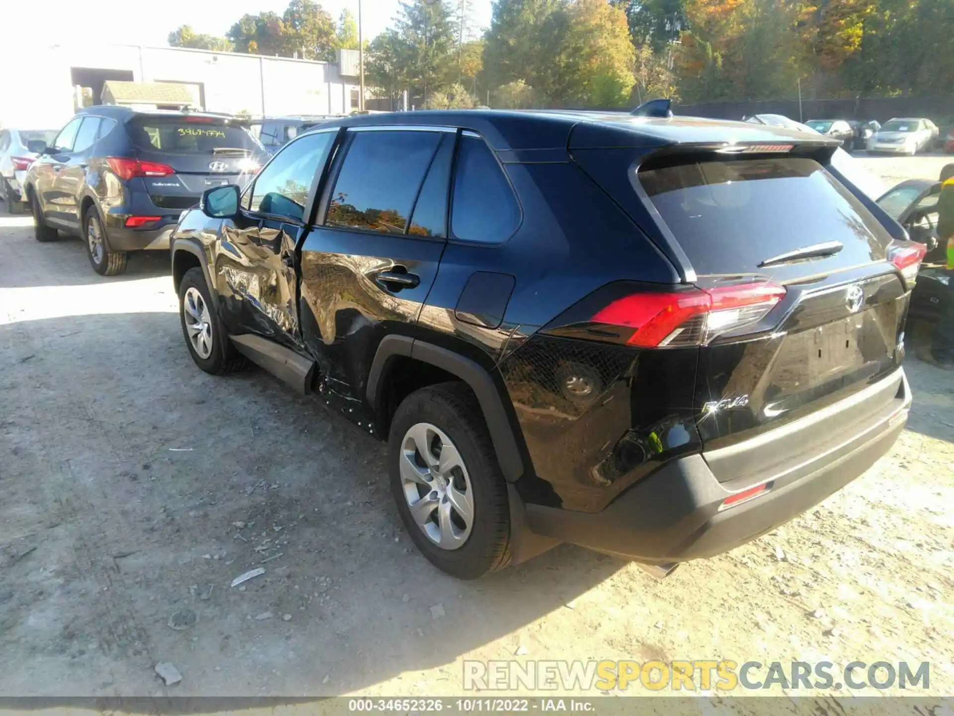
<path fill-rule="evenodd" d="M 384 336 L 368 372 L 366 395 L 371 406 L 377 410 L 386 378 L 385 369 L 398 356 L 429 363 L 456 375 L 467 383 L 470 390 L 473 390 L 474 395 L 477 396 L 481 411 L 484 412 L 490 440 L 493 442 L 493 449 L 497 453 L 497 460 L 500 462 L 500 469 L 505 479 L 508 482 L 515 482 L 524 474 L 524 460 L 520 455 L 520 448 L 513 434 L 508 412 L 500 397 L 500 391 L 487 370 L 460 353 L 408 336 Z"/>

